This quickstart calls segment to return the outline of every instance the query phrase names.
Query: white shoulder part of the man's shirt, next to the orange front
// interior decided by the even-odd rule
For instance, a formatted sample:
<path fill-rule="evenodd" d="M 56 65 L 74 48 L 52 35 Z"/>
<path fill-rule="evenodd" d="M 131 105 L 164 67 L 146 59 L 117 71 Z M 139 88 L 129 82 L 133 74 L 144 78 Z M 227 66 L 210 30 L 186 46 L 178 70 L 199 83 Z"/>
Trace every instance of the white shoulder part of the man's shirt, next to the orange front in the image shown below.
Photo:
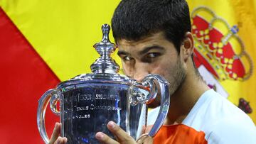
<path fill-rule="evenodd" d="M 205 132 L 208 143 L 256 143 L 251 118 L 212 89 L 201 96 L 183 123 Z"/>

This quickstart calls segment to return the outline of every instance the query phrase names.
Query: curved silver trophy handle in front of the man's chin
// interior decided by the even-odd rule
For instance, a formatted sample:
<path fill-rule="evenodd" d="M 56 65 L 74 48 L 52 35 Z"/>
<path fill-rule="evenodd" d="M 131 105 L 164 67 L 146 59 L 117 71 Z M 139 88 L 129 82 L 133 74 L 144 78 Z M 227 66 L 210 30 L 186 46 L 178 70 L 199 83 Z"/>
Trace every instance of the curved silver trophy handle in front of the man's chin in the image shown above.
<path fill-rule="evenodd" d="M 143 80 L 142 85 L 144 87 L 150 88 L 150 94 L 146 98 L 146 103 L 149 104 L 151 101 L 154 101 L 157 95 L 157 86 L 156 84 L 159 84 L 160 90 L 161 90 L 161 105 L 159 114 L 156 118 L 156 121 L 154 123 L 154 126 L 151 128 L 151 131 L 149 133 L 144 133 L 141 135 L 137 143 L 143 143 L 143 141 L 148 137 L 154 137 L 156 133 L 159 131 L 161 126 L 164 123 L 164 120 L 167 116 L 169 106 L 170 106 L 170 99 L 169 99 L 169 82 L 164 79 L 164 77 L 159 76 L 158 74 L 148 74 Z"/>

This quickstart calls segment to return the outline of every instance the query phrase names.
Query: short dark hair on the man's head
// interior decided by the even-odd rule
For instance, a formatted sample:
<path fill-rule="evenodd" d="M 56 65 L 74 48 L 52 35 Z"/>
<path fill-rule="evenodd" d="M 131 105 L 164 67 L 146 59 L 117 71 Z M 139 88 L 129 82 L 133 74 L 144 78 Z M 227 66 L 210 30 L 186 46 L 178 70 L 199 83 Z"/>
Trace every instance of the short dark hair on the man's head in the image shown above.
<path fill-rule="evenodd" d="M 122 0 L 112 17 L 115 41 L 140 40 L 163 31 L 167 40 L 179 47 L 191 31 L 188 4 L 185 0 Z"/>

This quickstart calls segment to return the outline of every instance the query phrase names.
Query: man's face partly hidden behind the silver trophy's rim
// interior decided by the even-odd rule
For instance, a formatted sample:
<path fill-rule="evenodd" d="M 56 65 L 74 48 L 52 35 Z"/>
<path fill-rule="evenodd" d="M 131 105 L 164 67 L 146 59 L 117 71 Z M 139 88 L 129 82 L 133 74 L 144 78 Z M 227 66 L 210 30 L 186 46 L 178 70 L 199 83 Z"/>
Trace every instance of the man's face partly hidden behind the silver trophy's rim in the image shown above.
<path fill-rule="evenodd" d="M 164 33 L 155 33 L 139 41 L 118 40 L 117 45 L 124 74 L 137 81 L 142 81 L 147 74 L 160 74 L 170 83 L 172 95 L 186 77 L 183 61 Z"/>

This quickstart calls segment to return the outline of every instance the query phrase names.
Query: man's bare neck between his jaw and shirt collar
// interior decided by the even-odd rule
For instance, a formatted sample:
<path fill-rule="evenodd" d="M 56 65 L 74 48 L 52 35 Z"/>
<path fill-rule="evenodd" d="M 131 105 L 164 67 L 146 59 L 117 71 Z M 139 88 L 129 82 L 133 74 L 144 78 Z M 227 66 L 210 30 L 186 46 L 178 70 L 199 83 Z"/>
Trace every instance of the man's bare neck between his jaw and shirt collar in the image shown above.
<path fill-rule="evenodd" d="M 181 123 L 196 104 L 196 101 L 208 89 L 210 88 L 195 72 L 188 73 L 181 87 L 171 95 L 171 106 L 164 124 Z"/>

